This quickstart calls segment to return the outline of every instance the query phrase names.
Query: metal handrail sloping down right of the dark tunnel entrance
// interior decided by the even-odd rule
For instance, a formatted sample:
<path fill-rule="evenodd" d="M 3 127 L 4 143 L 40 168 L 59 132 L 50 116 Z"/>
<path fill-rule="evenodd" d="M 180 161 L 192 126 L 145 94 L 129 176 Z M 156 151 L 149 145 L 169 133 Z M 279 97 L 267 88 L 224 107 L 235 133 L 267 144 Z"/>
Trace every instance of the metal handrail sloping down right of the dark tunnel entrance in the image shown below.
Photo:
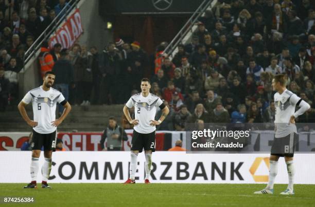
<path fill-rule="evenodd" d="M 197 10 L 190 16 L 189 20 L 182 27 L 182 29 L 176 34 L 173 40 L 164 49 L 163 54 L 170 57 L 172 52 L 177 48 L 177 46 L 182 42 L 184 37 L 189 31 L 193 31 L 193 26 L 198 21 L 198 18 L 204 13 L 204 11 L 211 5 L 213 0 L 204 0 Z"/>

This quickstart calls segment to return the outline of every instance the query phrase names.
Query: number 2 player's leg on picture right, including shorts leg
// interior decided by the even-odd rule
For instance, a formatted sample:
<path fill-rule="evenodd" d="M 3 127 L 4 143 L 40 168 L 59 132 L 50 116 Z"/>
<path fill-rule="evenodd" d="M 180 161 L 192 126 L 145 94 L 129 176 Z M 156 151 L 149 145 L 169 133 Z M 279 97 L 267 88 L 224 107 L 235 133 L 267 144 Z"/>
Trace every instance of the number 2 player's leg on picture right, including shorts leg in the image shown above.
<path fill-rule="evenodd" d="M 150 174 L 151 174 L 151 166 L 152 166 L 152 152 L 155 152 L 155 131 L 150 134 L 145 135 L 145 157 L 146 157 L 146 177 L 145 183 L 150 183 Z"/>

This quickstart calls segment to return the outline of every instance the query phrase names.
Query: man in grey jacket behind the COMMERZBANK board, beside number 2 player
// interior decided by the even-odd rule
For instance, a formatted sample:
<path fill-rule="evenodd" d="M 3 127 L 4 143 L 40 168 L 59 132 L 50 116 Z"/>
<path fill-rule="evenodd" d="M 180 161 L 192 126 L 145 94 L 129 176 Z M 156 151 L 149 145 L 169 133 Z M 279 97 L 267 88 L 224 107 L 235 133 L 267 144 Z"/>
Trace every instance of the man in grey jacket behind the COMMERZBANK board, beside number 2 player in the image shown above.
<path fill-rule="evenodd" d="M 107 139 L 107 145 L 104 145 Z M 107 151 L 120 151 L 122 147 L 121 141 L 127 141 L 128 137 L 126 131 L 117 125 L 117 121 L 114 117 L 110 117 L 108 120 L 108 126 L 103 131 L 102 138 L 100 140 L 102 150 Z"/>

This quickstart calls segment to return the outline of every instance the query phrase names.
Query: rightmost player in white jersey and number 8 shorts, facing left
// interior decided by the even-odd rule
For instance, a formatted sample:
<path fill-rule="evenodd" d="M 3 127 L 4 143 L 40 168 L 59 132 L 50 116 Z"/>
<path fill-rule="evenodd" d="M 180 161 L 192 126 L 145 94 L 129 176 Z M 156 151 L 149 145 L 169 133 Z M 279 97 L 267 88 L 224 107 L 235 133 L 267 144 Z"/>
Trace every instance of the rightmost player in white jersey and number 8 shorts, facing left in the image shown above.
<path fill-rule="evenodd" d="M 278 159 L 284 157 L 287 164 L 289 184 L 281 195 L 293 195 L 294 166 L 293 155 L 297 131 L 295 118 L 304 114 L 310 105 L 286 89 L 287 78 L 284 74 L 277 74 L 272 80 L 272 87 L 277 91 L 274 95 L 275 103 L 275 136 L 271 147 L 269 181 L 264 190 L 255 194 L 273 194 L 273 184 L 278 171 Z M 295 111 L 295 106 L 300 109 Z"/>

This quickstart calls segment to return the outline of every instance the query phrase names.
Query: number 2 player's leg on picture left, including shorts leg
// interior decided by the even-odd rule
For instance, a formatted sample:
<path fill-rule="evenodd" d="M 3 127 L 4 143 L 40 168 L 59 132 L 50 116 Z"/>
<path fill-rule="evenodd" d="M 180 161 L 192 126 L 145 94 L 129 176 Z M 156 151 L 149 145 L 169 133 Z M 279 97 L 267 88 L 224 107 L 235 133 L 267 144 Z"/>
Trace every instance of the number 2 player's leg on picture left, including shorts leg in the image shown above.
<path fill-rule="evenodd" d="M 130 166 L 129 166 L 129 179 L 125 184 L 135 183 L 135 173 L 137 171 L 137 157 L 142 152 L 143 141 L 142 134 L 133 130 L 133 136 L 131 140 L 131 152 L 130 152 Z"/>

